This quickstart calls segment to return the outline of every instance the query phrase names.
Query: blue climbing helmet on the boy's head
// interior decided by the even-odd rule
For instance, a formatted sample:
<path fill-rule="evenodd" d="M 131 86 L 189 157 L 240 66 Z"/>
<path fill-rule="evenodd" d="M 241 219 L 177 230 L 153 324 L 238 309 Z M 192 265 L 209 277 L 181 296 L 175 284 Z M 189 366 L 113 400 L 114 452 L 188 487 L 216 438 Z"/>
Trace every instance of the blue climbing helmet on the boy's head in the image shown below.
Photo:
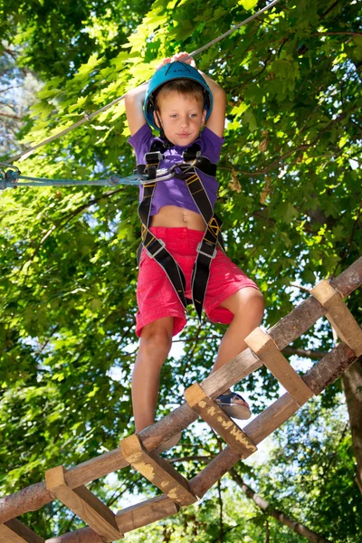
<path fill-rule="evenodd" d="M 199 73 L 193 66 L 186 64 L 186 62 L 170 62 L 159 68 L 159 70 L 155 71 L 148 83 L 148 90 L 146 91 L 143 110 L 148 124 L 154 129 L 159 130 L 153 117 L 153 112 L 155 110 L 155 91 L 159 90 L 160 87 L 162 87 L 162 85 L 168 81 L 177 79 L 189 79 L 201 85 L 205 96 L 204 107 L 206 110 L 206 119 L 210 117 L 211 110 L 213 109 L 213 94 L 201 73 Z"/>

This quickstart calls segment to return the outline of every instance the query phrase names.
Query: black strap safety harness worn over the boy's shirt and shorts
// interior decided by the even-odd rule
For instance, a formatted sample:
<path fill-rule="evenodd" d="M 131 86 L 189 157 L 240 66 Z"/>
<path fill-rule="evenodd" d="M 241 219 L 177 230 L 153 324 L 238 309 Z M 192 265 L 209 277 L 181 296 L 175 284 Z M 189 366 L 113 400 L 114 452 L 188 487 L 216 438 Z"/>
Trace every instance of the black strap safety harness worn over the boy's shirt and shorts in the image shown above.
<path fill-rule="evenodd" d="M 209 175 L 215 176 L 216 165 L 210 162 L 207 157 L 201 156 L 200 146 L 194 143 L 183 153 L 183 162 L 173 165 L 168 173 L 173 177 L 183 179 L 190 191 L 195 205 L 203 217 L 206 229 L 203 240 L 197 246 L 197 256 L 192 272 L 191 291 L 192 300 L 186 298 L 186 279 L 180 266 L 174 257 L 167 251 L 165 242 L 157 239 L 149 230 L 151 223 L 151 205 L 157 182 L 157 168 L 164 158 L 163 154 L 167 151 L 167 144 L 162 140 L 156 139 L 145 155 L 146 164 L 138 164 L 138 174 L 147 174 L 149 183 L 143 186 L 143 199 L 138 206 L 138 215 L 141 220 L 141 238 L 142 242 L 138 247 L 138 262 L 142 247 L 146 249 L 148 256 L 155 261 L 166 272 L 176 294 L 186 309 L 189 303 L 194 303 L 195 310 L 199 319 L 203 310 L 205 292 L 210 276 L 211 262 L 214 260 L 217 252 L 217 245 L 224 251 L 224 242 L 220 232 L 222 222 L 214 214 L 213 206 L 205 191 L 205 187 L 198 170 Z"/>

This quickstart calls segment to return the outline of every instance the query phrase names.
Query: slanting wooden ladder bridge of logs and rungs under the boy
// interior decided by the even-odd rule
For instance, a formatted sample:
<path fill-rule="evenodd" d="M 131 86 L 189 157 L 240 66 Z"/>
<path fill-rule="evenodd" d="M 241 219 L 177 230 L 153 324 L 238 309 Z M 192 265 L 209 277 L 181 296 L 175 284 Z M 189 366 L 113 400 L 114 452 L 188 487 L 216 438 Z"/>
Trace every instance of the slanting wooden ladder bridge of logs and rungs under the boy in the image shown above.
<path fill-rule="evenodd" d="M 186 403 L 139 434 L 126 437 L 119 448 L 67 470 L 62 465 L 45 472 L 45 481 L 0 500 L 1 543 L 101 543 L 117 541 L 131 530 L 175 515 L 200 500 L 205 492 L 240 459 L 257 450 L 281 424 L 313 395 L 333 383 L 362 355 L 362 329 L 343 301 L 362 284 L 362 257 L 332 281 L 320 281 L 289 315 L 267 332 L 257 328 L 245 339 L 249 348 L 202 383 L 185 391 Z M 325 315 L 341 343 L 303 376 L 281 351 Z M 287 391 L 243 430 L 215 404 L 214 399 L 264 365 Z M 161 443 L 201 417 L 227 446 L 204 470 L 187 481 L 154 452 Z M 90 481 L 131 466 L 163 494 L 114 513 L 85 486 Z M 16 517 L 60 500 L 86 524 L 46 541 Z"/>

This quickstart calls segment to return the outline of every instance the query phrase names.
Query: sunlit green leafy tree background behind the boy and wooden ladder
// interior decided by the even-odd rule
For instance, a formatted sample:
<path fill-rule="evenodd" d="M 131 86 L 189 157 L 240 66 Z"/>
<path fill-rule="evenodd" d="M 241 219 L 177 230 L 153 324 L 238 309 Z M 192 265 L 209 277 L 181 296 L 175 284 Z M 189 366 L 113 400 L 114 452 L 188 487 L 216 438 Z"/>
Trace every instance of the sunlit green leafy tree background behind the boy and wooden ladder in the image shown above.
<path fill-rule="evenodd" d="M 194 51 L 263 5 L 1 0 L 3 159 L 148 80 L 163 56 Z M 356 1 L 281 0 L 196 60 L 227 92 L 218 212 L 229 255 L 265 296 L 264 325 L 270 327 L 308 296 L 305 289 L 360 254 L 360 7 Z M 25 94 L 30 76 L 31 98 Z M 15 79 L 24 81 L 21 104 L 14 90 L 6 90 Z M 9 109 L 19 119 L 9 118 Z M 123 106 L 116 105 L 17 165 L 32 176 L 126 175 L 134 167 L 128 135 Z M 114 449 L 132 433 L 137 201 L 129 186 L 1 193 L 5 494 L 41 481 L 54 465 L 71 466 Z M 359 321 L 360 305 L 357 291 L 348 307 Z M 163 369 L 158 416 L 207 375 L 223 333 L 207 322 L 200 328 L 191 314 L 181 336 L 185 353 Z M 321 321 L 292 348 L 332 346 L 329 326 Z M 293 364 L 301 367 L 295 358 Z M 361 363 L 355 366 L 362 384 Z M 279 395 L 264 370 L 245 379 L 243 389 L 255 413 Z M 238 470 L 310 529 L 355 543 L 362 540 L 362 519 L 354 424 L 348 425 L 337 382 L 277 433 L 268 457 L 240 462 Z M 197 430 L 185 433 L 175 455 L 210 455 L 218 448 L 214 435 Z M 201 466 L 182 462 L 180 469 L 192 476 Z M 93 490 L 116 509 L 129 492 L 153 492 L 127 472 L 107 485 L 96 482 Z M 81 526 L 57 503 L 29 513 L 24 522 L 48 538 Z M 301 540 L 275 520 L 269 525 L 271 541 Z M 223 481 L 200 506 L 128 538 L 259 542 L 267 533 L 266 516 L 233 482 Z"/>

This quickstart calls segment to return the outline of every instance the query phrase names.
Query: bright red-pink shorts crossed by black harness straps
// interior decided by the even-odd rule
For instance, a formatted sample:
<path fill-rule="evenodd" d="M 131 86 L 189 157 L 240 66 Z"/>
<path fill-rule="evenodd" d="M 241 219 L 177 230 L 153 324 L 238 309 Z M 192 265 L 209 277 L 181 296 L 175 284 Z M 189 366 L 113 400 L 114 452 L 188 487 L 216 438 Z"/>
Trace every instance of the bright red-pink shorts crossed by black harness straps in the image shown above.
<path fill-rule="evenodd" d="M 186 298 L 192 298 L 191 273 L 197 254 L 196 247 L 203 239 L 204 233 L 188 228 L 156 227 L 150 230 L 166 243 L 167 251 L 172 254 L 184 271 Z M 258 289 L 256 284 L 239 270 L 221 249 L 218 249 L 211 263 L 210 279 L 205 295 L 204 309 L 208 319 L 230 324 L 233 313 L 221 308 L 220 304 L 234 292 L 245 287 Z M 137 301 L 136 334 L 138 338 L 144 326 L 164 317 L 174 317 L 174 336 L 185 327 L 184 306 L 178 299 L 165 271 L 154 259 L 149 258 L 144 249 L 139 262 Z"/>

